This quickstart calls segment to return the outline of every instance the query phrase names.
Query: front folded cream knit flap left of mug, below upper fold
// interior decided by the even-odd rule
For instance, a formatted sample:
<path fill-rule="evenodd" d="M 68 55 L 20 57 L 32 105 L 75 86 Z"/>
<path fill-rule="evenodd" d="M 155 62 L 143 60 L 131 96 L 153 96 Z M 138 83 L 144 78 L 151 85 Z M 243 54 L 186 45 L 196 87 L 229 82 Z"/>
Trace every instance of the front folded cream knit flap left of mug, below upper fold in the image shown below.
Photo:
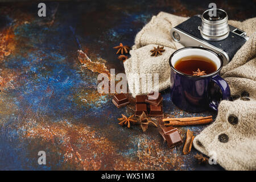
<path fill-rule="evenodd" d="M 125 61 L 126 78 L 129 84 L 129 90 L 133 94 L 133 97 L 138 94 L 148 93 L 151 90 L 158 90 L 155 85 L 154 74 L 158 74 L 160 90 L 168 88 L 170 86 L 170 66 L 169 57 L 175 49 L 165 47 L 166 51 L 159 57 L 150 56 L 152 46 L 157 47 L 156 44 L 150 44 L 139 49 L 139 51 L 131 50 L 131 58 L 129 59 L 129 65 Z M 151 74 L 151 75 L 150 75 Z M 143 80 L 144 79 L 144 80 Z M 152 80 L 147 81 L 147 79 Z M 135 80 L 139 81 L 136 82 Z M 153 85 L 152 85 L 152 84 Z M 147 84 L 149 88 L 147 88 Z M 146 89 L 143 92 L 143 89 Z M 138 90 L 136 90 L 138 89 Z"/>

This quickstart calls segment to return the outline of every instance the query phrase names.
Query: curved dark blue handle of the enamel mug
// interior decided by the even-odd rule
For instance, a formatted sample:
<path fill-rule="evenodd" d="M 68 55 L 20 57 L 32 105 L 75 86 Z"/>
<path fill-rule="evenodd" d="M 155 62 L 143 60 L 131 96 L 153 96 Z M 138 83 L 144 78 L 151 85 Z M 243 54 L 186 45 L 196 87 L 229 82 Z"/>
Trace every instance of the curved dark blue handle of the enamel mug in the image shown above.
<path fill-rule="evenodd" d="M 219 75 L 215 75 L 212 77 L 212 81 L 214 83 L 216 83 L 222 92 L 222 98 L 221 100 L 229 100 L 230 98 L 230 88 L 228 83 L 221 78 Z M 218 103 L 214 102 L 214 101 L 210 101 L 209 107 L 215 111 L 218 111 Z"/>

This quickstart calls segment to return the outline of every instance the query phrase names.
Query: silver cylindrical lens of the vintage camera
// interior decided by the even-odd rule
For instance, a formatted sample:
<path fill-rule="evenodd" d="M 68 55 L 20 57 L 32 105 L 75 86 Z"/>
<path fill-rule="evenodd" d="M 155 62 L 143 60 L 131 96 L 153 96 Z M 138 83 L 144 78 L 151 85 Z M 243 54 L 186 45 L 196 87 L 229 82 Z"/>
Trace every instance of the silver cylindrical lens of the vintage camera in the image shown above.
<path fill-rule="evenodd" d="M 216 16 L 210 16 L 209 11 L 216 10 Z M 221 9 L 209 9 L 201 16 L 201 36 L 206 40 L 223 40 L 229 35 L 228 14 Z"/>

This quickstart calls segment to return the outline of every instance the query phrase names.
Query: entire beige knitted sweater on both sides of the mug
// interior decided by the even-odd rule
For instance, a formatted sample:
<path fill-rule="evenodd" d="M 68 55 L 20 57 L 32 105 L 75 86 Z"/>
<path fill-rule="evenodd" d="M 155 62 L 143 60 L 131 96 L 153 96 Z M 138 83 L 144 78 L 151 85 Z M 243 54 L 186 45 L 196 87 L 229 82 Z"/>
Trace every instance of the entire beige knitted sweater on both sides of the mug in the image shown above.
<path fill-rule="evenodd" d="M 133 97 L 151 91 L 141 89 L 147 86 L 147 80 L 141 79 L 145 73 L 159 74 L 159 90 L 170 86 L 168 59 L 172 52 L 183 47 L 171 39 L 170 30 L 186 19 L 161 12 L 137 34 L 131 57 L 124 63 L 129 89 L 134 84 L 130 75 L 136 73 L 139 78 L 135 86 L 139 89 L 130 90 Z M 193 146 L 225 169 L 256 170 L 256 18 L 244 22 L 229 20 L 229 24 L 250 36 L 221 71 L 234 101 L 221 102 L 216 121 L 195 137 Z M 162 56 L 151 57 L 150 49 L 158 45 L 166 51 Z"/>

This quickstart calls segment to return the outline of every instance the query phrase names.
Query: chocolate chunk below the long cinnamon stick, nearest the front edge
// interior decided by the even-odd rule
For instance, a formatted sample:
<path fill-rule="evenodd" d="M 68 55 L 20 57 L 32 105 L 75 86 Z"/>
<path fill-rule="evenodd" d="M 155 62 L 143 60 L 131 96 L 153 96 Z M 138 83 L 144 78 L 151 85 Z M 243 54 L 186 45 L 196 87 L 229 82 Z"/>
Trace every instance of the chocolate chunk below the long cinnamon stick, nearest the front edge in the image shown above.
<path fill-rule="evenodd" d="M 175 147 L 182 143 L 179 131 L 172 126 L 161 127 L 159 133 L 163 137 L 164 142 L 167 142 L 168 147 Z"/>

